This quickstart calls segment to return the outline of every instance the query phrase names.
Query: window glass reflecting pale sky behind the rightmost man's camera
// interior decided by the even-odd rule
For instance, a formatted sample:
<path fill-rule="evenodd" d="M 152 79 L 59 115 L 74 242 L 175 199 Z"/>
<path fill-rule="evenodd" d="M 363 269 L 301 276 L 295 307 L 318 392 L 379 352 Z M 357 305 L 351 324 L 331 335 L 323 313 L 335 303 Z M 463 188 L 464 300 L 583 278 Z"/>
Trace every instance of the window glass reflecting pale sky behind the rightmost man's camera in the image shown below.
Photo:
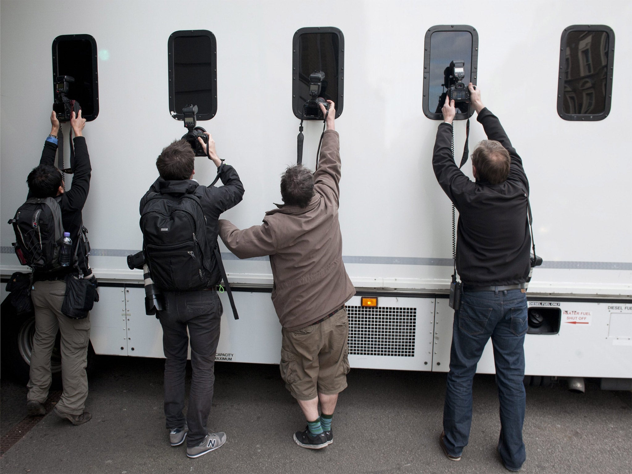
<path fill-rule="evenodd" d="M 472 35 L 466 31 L 437 31 L 430 36 L 430 78 L 428 85 L 428 110 L 441 114 L 446 101 L 444 71 L 451 61 L 465 61 L 464 83 L 471 82 Z M 466 113 L 468 104 L 457 107 Z M 457 112 L 458 113 L 458 112 Z"/>

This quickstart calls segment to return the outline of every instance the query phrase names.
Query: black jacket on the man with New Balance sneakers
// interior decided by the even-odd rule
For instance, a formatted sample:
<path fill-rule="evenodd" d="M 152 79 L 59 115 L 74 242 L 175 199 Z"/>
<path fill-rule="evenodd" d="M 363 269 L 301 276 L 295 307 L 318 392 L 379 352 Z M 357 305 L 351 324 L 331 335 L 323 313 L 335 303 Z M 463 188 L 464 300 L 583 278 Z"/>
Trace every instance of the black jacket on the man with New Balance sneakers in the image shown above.
<path fill-rule="evenodd" d="M 217 173 L 224 185 L 218 188 L 216 188 L 216 186 L 207 187 L 199 185 L 197 181 L 193 181 L 193 179 L 177 181 L 165 181 L 162 178 L 156 179 L 154 184 L 149 188 L 149 191 L 147 191 L 140 200 L 140 214 L 143 214 L 143 207 L 145 207 L 149 193 L 157 193 L 160 190 L 164 192 L 165 188 L 170 191 L 173 190 L 173 193 L 176 194 L 193 193 L 200 199 L 200 204 L 202 204 L 204 217 L 206 217 L 206 238 L 212 247 L 213 243 L 217 242 L 217 234 L 219 233 L 217 219 L 219 219 L 222 212 L 239 204 L 244 193 L 239 175 L 232 166 L 222 163 L 221 166 L 217 168 Z M 213 255 L 211 259 L 213 262 L 213 268 L 211 270 L 212 281 L 219 282 L 221 273 L 217 266 L 215 256 Z"/>

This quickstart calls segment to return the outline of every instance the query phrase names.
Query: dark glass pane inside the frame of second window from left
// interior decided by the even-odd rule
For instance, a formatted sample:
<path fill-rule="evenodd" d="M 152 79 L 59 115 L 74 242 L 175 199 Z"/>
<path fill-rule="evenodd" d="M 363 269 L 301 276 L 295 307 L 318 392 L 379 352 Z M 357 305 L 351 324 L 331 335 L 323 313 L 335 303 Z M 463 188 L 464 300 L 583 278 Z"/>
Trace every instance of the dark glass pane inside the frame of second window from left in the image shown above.
<path fill-rule="evenodd" d="M 173 89 L 175 110 L 182 113 L 188 104 L 198 106 L 198 114 L 212 114 L 213 47 L 209 36 L 178 36 L 173 39 Z"/>

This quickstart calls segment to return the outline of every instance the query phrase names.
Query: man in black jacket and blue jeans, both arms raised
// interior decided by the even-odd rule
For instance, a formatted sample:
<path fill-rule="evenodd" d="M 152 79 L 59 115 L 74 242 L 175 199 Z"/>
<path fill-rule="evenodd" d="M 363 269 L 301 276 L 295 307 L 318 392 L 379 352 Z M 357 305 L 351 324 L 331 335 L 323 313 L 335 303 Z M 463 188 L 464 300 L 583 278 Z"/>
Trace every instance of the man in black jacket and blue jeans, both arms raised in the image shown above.
<path fill-rule="evenodd" d="M 432 166 L 439 185 L 459 211 L 456 269 L 463 283 L 461 307 L 454 312 L 450 372 L 440 444 L 458 461 L 468 444 L 472 380 L 485 344 L 492 338 L 500 400 L 498 451 L 508 470 L 525 461 L 525 282 L 530 270 L 527 221 L 529 183 L 522 161 L 499 120 L 483 106 L 470 83 L 471 104 L 490 140 L 472 155 L 475 182 L 461 173 L 451 152 L 454 100 L 442 109 Z"/>

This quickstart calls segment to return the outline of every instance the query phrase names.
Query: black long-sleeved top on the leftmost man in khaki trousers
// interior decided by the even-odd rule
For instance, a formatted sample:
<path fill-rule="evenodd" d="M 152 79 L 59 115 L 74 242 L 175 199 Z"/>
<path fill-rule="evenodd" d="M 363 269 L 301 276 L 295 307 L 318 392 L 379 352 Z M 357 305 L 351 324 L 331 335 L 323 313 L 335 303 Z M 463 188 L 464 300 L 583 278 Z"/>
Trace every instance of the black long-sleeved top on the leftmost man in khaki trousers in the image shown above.
<path fill-rule="evenodd" d="M 85 143 L 84 137 L 75 137 L 73 139 L 75 143 L 75 159 L 70 162 L 70 167 L 74 170 L 73 180 L 71 182 L 71 188 L 61 195 L 61 222 L 64 226 L 64 231 L 70 233 L 70 238 L 73 240 L 73 252 L 76 245 L 79 244 L 79 232 L 83 225 L 82 210 L 85 205 L 85 200 L 88 198 L 88 191 L 90 190 L 90 174 L 92 173 L 92 167 L 90 166 L 90 155 L 88 155 L 88 146 Z M 44 143 L 44 150 L 42 150 L 42 158 L 40 164 L 49 164 L 55 166 L 55 155 L 57 153 L 57 145 L 51 142 Z M 66 178 L 68 175 L 66 175 Z M 28 197 L 31 198 L 32 193 L 28 191 Z M 85 249 L 78 249 L 77 257 L 79 259 L 78 265 L 82 270 L 84 276 L 88 276 L 91 273 L 88 265 L 88 257 L 85 255 Z M 56 277 L 64 276 L 68 273 L 76 272 L 74 267 L 68 267 L 68 269 L 61 269 L 58 272 L 38 274 L 34 272 L 33 278 L 35 280 L 53 279 Z"/>

